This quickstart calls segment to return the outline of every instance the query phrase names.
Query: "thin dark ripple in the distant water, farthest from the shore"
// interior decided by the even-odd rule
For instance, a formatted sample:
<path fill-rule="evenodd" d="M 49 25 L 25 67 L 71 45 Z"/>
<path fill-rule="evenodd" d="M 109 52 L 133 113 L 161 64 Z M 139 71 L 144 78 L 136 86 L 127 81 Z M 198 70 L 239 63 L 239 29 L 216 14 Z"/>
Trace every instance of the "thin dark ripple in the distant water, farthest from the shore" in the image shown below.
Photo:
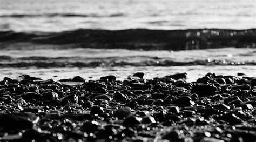
<path fill-rule="evenodd" d="M 10 14 L 0 15 L 0 18 L 33 18 L 33 17 L 122 17 L 123 13 L 113 13 L 110 15 L 97 14 L 77 14 L 77 13 L 43 13 L 43 14 Z"/>

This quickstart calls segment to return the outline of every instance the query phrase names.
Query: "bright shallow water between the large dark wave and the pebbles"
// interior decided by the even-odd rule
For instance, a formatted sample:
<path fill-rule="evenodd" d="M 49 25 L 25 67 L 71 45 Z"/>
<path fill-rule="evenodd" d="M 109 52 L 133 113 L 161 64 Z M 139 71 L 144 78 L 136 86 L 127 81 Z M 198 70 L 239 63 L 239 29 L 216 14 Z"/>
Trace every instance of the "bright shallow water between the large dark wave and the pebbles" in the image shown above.
<path fill-rule="evenodd" d="M 1 50 L 0 57 L 0 79 L 5 76 L 17 78 L 25 73 L 42 79 L 53 78 L 56 80 L 72 78 L 76 75 L 86 79 L 99 79 L 101 76 L 116 75 L 118 79 L 123 80 L 128 75 L 133 75 L 136 72 L 144 72 L 146 74 L 145 78 L 149 79 L 157 76 L 164 77 L 173 73 L 187 72 L 189 76 L 188 81 L 190 82 L 196 81 L 197 78 L 204 76 L 208 72 L 232 76 L 236 76 L 238 72 L 241 72 L 245 73 L 246 76 L 256 77 L 256 49 L 251 48 L 181 51 L 86 48 L 55 50 L 49 48 Z M 176 64 L 161 64 L 161 62 L 166 62 L 166 60 Z M 219 63 L 214 64 L 210 62 L 211 60 L 218 60 Z M 70 64 L 74 62 L 86 64 L 78 66 L 76 66 L 77 64 Z M 95 62 L 100 64 L 98 65 Z M 157 62 L 158 64 L 156 64 Z M 183 64 L 187 62 L 192 62 L 193 64 Z M 223 62 L 240 64 L 220 64 Z M 127 65 L 127 63 L 133 64 Z M 201 65 L 202 63 L 205 64 Z M 22 64 L 22 66 L 18 66 L 18 64 Z"/>

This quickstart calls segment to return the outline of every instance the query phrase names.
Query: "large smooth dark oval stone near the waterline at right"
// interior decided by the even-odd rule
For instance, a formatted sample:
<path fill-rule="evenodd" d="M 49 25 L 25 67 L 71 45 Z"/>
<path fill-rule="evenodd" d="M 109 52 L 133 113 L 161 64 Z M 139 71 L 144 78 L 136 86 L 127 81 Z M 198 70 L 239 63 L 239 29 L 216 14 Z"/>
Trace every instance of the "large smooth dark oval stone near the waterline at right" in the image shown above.
<path fill-rule="evenodd" d="M 200 84 L 193 86 L 191 93 L 198 94 L 198 97 L 212 96 L 216 92 L 217 88 L 208 84 Z"/>

